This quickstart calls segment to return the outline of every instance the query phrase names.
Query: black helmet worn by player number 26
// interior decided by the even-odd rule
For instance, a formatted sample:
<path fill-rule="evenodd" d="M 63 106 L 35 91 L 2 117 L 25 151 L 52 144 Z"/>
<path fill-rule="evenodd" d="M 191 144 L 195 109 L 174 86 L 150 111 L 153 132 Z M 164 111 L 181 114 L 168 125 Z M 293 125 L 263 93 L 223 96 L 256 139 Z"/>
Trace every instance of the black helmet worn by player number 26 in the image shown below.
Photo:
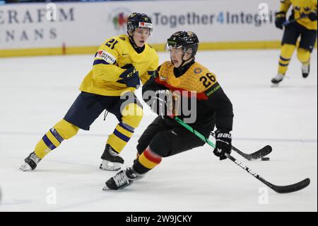
<path fill-rule="evenodd" d="M 194 57 L 199 47 L 199 38 L 192 31 L 178 31 L 167 39 L 167 48 L 171 47 L 182 47 L 183 52 L 192 49 L 192 57 Z"/>

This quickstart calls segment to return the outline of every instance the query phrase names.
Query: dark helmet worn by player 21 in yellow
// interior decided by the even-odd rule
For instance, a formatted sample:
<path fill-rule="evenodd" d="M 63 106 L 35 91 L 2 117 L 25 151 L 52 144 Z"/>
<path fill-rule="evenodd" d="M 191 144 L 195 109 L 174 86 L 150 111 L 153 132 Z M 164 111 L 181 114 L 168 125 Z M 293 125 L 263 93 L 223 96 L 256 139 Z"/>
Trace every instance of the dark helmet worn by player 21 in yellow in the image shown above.
<path fill-rule="evenodd" d="M 127 20 L 127 33 L 132 35 L 136 28 L 149 28 L 153 31 L 153 23 L 151 18 L 144 13 L 132 13 Z"/>

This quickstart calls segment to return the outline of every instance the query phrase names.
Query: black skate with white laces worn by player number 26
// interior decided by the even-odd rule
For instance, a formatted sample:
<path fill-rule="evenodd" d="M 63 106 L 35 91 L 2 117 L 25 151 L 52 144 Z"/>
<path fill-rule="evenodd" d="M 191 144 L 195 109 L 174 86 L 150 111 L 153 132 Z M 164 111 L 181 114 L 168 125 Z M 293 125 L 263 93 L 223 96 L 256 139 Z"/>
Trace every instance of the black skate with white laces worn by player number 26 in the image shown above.
<path fill-rule="evenodd" d="M 142 177 L 143 176 L 141 174 L 137 174 L 132 168 L 123 169 L 106 181 L 106 186 L 102 188 L 102 190 L 107 191 L 122 189 Z"/>

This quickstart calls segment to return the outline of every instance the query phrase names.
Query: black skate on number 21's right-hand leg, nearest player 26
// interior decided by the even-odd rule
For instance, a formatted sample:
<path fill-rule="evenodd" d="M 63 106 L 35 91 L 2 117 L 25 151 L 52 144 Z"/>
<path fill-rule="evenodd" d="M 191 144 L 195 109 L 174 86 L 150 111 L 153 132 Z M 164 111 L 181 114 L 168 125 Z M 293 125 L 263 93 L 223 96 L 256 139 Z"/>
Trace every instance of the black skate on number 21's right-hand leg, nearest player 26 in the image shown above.
<path fill-rule="evenodd" d="M 122 167 L 124 164 L 124 159 L 119 156 L 112 146 L 106 145 L 104 153 L 102 153 L 102 163 L 100 164 L 100 169 L 116 171 Z"/>

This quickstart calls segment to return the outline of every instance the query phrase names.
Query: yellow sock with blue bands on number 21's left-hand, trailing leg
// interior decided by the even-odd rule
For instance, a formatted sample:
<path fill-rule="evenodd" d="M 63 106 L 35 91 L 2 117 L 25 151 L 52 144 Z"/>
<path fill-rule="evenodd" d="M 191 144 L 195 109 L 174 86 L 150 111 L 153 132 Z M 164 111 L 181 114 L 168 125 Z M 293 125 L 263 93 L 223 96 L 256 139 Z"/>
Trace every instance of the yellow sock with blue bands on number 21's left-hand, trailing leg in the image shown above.
<path fill-rule="evenodd" d="M 35 154 L 43 159 L 49 152 L 61 145 L 63 140 L 67 140 L 78 132 L 79 128 L 66 120 L 61 120 L 47 132 L 35 146 Z"/>

